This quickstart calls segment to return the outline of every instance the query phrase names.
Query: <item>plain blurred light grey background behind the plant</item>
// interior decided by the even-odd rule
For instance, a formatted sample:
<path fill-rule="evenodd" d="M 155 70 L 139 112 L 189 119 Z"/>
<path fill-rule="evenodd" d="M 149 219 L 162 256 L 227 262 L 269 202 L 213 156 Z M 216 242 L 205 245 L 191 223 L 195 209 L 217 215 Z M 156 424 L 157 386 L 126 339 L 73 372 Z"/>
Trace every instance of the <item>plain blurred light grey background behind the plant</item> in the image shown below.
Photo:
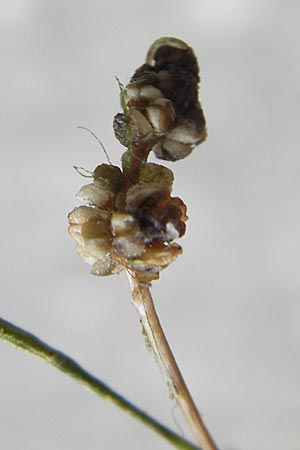
<path fill-rule="evenodd" d="M 222 450 L 300 448 L 299 13 L 289 0 L 0 1 L 0 314 L 188 438 L 125 274 L 89 275 L 66 216 L 85 184 L 72 165 L 105 162 L 77 125 L 119 164 L 115 76 L 128 82 L 162 35 L 199 57 L 209 138 L 169 164 L 190 220 L 153 294 Z M 169 448 L 44 362 L 1 342 L 0 355 L 6 450 Z"/>

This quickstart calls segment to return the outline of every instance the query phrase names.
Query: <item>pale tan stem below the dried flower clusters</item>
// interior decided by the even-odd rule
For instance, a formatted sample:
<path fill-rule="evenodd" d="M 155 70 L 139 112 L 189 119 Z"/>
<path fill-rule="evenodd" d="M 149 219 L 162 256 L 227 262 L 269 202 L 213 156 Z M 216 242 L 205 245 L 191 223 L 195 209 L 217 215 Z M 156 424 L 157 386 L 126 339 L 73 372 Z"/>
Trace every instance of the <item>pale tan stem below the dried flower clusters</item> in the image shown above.
<path fill-rule="evenodd" d="M 183 415 L 202 449 L 217 450 L 217 446 L 205 427 L 177 366 L 157 316 L 149 286 L 138 283 L 130 275 L 129 282 L 132 290 L 132 301 L 138 311 L 147 346 L 159 365 L 171 396 L 178 402 Z"/>

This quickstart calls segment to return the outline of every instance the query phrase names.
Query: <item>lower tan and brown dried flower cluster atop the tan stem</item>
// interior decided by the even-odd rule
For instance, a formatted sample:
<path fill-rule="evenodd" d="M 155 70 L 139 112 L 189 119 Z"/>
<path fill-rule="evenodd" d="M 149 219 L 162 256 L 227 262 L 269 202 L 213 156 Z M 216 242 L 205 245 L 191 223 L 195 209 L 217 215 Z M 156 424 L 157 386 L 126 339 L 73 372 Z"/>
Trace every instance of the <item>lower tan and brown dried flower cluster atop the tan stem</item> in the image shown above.
<path fill-rule="evenodd" d="M 114 199 L 120 178 L 118 167 L 96 168 L 94 181 L 77 194 L 83 205 L 69 214 L 69 233 L 94 275 L 127 269 L 140 282 L 150 282 L 182 253 L 172 241 L 185 232 L 186 206 L 170 195 L 172 172 L 144 163 L 139 183 L 127 192 L 125 211 L 119 212 Z"/>

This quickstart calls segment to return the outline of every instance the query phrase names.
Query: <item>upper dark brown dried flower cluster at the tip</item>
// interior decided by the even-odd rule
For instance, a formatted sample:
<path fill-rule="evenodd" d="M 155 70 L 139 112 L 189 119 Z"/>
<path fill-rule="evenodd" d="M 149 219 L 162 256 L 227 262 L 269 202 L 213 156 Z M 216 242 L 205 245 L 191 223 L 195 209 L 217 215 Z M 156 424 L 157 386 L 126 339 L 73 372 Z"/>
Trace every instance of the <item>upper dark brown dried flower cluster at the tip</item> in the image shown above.
<path fill-rule="evenodd" d="M 206 138 L 205 118 L 198 101 L 199 68 L 193 50 L 175 38 L 158 39 L 146 63 L 123 90 L 124 114 L 117 114 L 114 130 L 128 147 L 129 126 L 138 145 L 156 135 L 152 150 L 160 159 L 185 158 Z"/>

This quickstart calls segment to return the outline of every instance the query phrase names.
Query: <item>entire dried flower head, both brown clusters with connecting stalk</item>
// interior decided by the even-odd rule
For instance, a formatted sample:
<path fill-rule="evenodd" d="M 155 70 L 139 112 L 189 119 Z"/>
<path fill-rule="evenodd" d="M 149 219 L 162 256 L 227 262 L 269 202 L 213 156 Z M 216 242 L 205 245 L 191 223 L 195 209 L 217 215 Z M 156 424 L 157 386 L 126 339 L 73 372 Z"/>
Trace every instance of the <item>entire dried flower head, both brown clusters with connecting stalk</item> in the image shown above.
<path fill-rule="evenodd" d="M 128 149 L 122 170 L 97 166 L 77 194 L 82 206 L 68 217 L 77 251 L 94 275 L 126 269 L 149 283 L 182 253 L 173 241 L 185 233 L 187 215 L 183 201 L 171 196 L 173 172 L 146 160 L 151 150 L 162 159 L 184 158 L 205 139 L 198 83 L 193 50 L 162 38 L 122 88 L 123 113 L 114 118 L 115 134 Z"/>

